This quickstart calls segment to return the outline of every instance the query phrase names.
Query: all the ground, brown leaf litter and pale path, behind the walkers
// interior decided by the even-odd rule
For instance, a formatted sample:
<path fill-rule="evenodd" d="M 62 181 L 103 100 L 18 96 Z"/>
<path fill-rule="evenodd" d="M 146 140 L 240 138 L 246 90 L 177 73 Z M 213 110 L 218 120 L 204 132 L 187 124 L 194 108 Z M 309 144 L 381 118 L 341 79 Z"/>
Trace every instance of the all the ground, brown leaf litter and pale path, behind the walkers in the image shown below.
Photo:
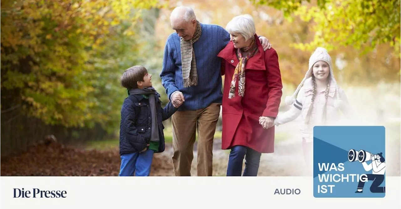
<path fill-rule="evenodd" d="M 296 127 L 296 124 L 294 124 Z M 277 127 L 276 133 L 288 133 L 288 139 L 275 144 L 275 152 L 262 154 L 259 176 L 305 176 L 301 141 L 297 131 L 286 125 Z M 401 141 L 387 144 L 386 163 L 388 176 L 401 175 Z M 152 164 L 153 176 L 174 176 L 172 166 L 172 145 L 166 144 L 166 151 L 156 153 Z M 192 161 L 192 176 L 196 176 L 196 144 Z M 229 150 L 221 150 L 221 140 L 213 145 L 213 175 L 225 176 Z M 116 176 L 119 172 L 120 157 L 118 147 L 107 150 L 85 150 L 64 147 L 53 142 L 49 145 L 32 146 L 25 153 L 0 159 L 0 175 L 3 176 Z M 243 166 L 245 167 L 245 166 Z"/>

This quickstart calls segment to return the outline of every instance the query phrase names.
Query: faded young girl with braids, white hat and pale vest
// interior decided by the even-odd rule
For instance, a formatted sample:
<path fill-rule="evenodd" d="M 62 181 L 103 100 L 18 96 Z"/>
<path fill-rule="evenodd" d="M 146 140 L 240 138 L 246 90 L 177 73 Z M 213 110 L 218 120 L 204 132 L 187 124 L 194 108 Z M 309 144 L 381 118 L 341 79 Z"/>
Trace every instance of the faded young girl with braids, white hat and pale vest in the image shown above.
<path fill-rule="evenodd" d="M 328 125 L 338 119 L 338 109 L 348 114 L 348 100 L 334 79 L 332 62 L 327 50 L 316 48 L 309 59 L 306 75 L 294 94 L 286 98 L 291 109 L 279 114 L 275 125 L 284 124 L 302 115 L 302 147 L 306 164 L 312 158 L 313 127 Z"/>

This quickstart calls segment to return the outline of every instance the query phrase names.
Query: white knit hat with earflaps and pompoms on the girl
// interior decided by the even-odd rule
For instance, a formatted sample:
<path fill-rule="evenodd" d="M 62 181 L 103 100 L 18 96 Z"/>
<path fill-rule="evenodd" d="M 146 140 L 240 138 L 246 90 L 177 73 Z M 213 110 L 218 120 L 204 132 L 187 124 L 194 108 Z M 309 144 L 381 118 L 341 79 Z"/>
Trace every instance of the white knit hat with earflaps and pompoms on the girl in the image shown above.
<path fill-rule="evenodd" d="M 336 101 L 334 102 L 334 106 L 335 107 L 340 107 L 342 105 L 342 101 L 340 100 L 340 97 L 338 95 L 338 86 L 337 86 L 336 79 L 334 78 L 333 67 L 332 67 L 330 55 L 328 54 L 327 50 L 325 48 L 322 48 L 322 47 L 316 48 L 316 50 L 313 52 L 312 56 L 310 56 L 308 71 L 306 72 L 305 77 L 302 80 L 302 82 L 298 85 L 298 87 L 295 90 L 294 94 L 292 96 L 287 96 L 286 97 L 286 104 L 287 105 L 294 104 L 299 90 L 301 89 L 302 86 L 304 86 L 304 82 L 308 78 L 312 77 L 312 74 L 313 74 L 312 67 L 318 61 L 327 62 L 328 66 L 329 66 L 329 70 L 330 70 L 330 79 L 336 85 Z"/>

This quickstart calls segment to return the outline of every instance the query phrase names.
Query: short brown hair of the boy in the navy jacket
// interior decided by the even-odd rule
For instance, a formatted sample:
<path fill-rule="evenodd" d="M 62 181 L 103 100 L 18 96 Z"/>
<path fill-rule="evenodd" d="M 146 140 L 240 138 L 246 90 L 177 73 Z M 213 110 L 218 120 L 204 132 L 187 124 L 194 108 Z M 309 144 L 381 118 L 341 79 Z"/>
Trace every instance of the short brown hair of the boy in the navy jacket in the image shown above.
<path fill-rule="evenodd" d="M 137 89 L 138 81 L 144 81 L 145 75 L 148 70 L 144 66 L 136 65 L 124 71 L 120 78 L 121 86 L 127 89 Z"/>

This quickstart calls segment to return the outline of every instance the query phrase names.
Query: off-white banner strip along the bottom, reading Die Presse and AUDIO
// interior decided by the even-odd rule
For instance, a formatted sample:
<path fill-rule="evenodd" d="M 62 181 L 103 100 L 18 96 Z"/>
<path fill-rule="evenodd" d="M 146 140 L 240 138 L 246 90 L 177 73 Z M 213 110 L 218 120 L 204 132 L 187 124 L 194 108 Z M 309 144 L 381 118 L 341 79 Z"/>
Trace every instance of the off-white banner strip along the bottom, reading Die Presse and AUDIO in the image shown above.
<path fill-rule="evenodd" d="M 4 209 L 399 208 L 400 197 L 401 177 L 386 177 L 384 198 L 315 198 L 312 177 L 0 177 Z"/>

